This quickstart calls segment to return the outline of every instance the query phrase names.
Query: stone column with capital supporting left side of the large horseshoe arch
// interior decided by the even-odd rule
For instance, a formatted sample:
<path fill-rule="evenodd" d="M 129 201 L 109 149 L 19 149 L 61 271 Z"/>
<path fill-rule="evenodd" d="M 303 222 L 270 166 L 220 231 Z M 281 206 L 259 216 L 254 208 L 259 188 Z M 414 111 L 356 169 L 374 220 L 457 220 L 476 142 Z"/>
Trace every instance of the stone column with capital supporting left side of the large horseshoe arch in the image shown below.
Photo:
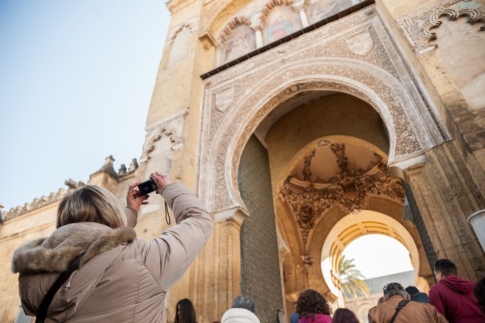
<path fill-rule="evenodd" d="M 241 292 L 240 229 L 248 213 L 235 207 L 214 214 L 214 232 L 190 267 L 189 296 L 198 318 L 218 321 Z"/>

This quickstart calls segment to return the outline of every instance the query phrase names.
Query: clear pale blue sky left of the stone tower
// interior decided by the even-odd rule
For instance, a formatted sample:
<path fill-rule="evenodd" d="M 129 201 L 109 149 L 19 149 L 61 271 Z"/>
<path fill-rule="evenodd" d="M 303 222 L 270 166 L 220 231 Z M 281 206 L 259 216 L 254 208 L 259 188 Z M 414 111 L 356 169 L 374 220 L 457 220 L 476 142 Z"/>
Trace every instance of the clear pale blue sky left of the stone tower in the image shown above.
<path fill-rule="evenodd" d="M 0 0 L 4 211 L 139 157 L 169 22 L 163 0 Z"/>

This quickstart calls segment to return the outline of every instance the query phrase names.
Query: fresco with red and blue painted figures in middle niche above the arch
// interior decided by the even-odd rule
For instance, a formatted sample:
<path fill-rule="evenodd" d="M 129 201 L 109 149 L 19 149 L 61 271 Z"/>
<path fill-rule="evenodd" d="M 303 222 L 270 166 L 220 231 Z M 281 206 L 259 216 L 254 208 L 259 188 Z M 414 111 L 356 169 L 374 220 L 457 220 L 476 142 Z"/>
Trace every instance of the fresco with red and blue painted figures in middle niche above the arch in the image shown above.
<path fill-rule="evenodd" d="M 263 42 L 264 44 L 269 44 L 302 28 L 298 13 L 288 6 L 278 6 L 273 9 L 266 20 Z"/>

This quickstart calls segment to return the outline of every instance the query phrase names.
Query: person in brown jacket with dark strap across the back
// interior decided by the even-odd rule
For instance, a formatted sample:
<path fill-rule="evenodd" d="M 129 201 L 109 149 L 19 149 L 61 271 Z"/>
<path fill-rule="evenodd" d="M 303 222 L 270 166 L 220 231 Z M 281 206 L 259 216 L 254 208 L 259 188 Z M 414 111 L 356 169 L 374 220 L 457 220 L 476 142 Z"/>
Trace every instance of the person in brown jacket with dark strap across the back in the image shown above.
<path fill-rule="evenodd" d="M 383 292 L 386 301 L 369 310 L 369 323 L 448 322 L 431 305 L 408 300 L 408 293 L 399 283 L 385 285 Z"/>

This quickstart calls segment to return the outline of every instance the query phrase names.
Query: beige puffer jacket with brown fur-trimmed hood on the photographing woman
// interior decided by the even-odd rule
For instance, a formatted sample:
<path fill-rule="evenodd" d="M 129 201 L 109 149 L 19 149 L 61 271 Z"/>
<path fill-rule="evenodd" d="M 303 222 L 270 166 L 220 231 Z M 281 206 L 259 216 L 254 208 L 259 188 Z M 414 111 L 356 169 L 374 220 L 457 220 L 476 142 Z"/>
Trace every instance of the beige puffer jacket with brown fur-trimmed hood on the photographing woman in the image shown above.
<path fill-rule="evenodd" d="M 136 238 L 130 227 L 83 222 L 17 249 L 12 270 L 20 273 L 26 314 L 35 315 L 59 272 L 86 250 L 80 269 L 55 295 L 46 322 L 165 322 L 167 292 L 207 242 L 213 223 L 183 185 L 168 185 L 162 196 L 177 224 L 151 242 Z M 127 218 L 134 226 L 136 214 L 128 210 Z"/>

